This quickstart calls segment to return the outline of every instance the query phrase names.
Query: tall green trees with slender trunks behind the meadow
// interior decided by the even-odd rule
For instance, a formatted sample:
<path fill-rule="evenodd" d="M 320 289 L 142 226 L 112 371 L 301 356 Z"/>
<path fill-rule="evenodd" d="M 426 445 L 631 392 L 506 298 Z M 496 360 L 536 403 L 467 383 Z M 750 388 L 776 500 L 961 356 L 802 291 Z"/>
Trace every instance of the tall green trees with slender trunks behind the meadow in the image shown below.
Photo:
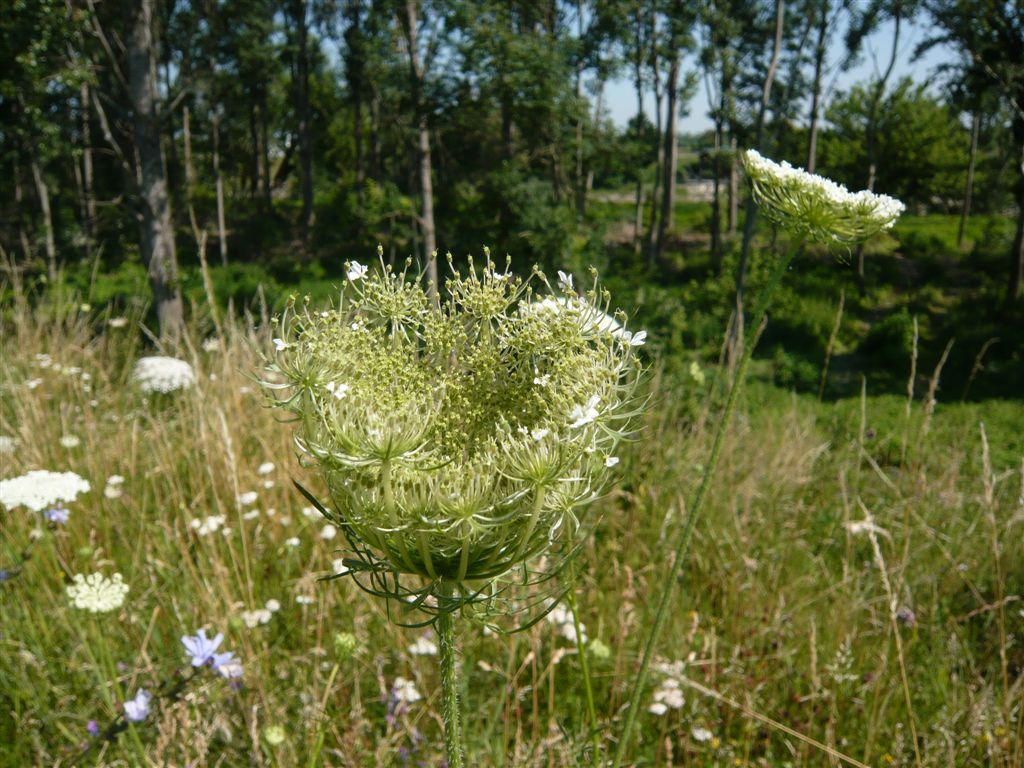
<path fill-rule="evenodd" d="M 18 0 L 0 14 L 0 247 L 18 279 L 140 259 L 174 333 L 179 252 L 297 273 L 378 242 L 427 264 L 482 244 L 582 264 L 603 248 L 588 211 L 603 186 L 632 190 L 635 251 L 656 265 L 677 183 L 697 176 L 713 182 L 712 254 L 740 252 L 741 286 L 755 212 L 739 215 L 736 158 L 755 146 L 922 210 L 1012 211 L 1016 298 L 1017 6 Z M 894 78 L 911 23 L 933 31 L 919 49 L 944 42 L 961 62 Z M 837 91 L 881 25 L 896 34 L 877 75 Z M 608 119 L 614 78 L 636 90 L 625 129 Z M 714 129 L 684 142 L 698 88 Z"/>

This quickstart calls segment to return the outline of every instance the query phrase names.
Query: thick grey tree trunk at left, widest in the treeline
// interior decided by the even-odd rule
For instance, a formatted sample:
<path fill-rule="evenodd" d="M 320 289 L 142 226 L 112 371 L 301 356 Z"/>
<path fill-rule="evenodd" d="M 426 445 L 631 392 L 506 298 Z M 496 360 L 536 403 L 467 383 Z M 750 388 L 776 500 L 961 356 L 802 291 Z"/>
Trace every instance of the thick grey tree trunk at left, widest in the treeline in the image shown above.
<path fill-rule="evenodd" d="M 161 337 L 171 342 L 184 329 L 178 263 L 171 225 L 167 170 L 157 115 L 154 0 L 138 0 L 127 36 L 132 133 L 140 178 L 141 253 L 150 276 Z"/>

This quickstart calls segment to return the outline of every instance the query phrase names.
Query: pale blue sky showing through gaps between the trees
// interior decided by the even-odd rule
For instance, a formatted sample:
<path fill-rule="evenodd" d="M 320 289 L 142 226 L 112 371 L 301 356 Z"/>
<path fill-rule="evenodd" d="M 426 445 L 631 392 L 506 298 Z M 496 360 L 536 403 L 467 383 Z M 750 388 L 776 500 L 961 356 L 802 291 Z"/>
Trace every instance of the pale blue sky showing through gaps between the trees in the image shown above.
<path fill-rule="evenodd" d="M 867 39 L 858 63 L 850 71 L 839 75 L 836 82 L 837 89 L 843 90 L 854 83 L 869 80 L 874 76 L 877 69 L 885 68 L 892 50 L 893 29 L 891 23 L 884 25 Z M 902 25 L 893 81 L 910 76 L 915 81 L 921 82 L 926 80 L 939 65 L 955 60 L 955 52 L 948 47 L 933 48 L 920 59 L 912 60 L 913 49 L 929 37 L 929 33 L 930 28 L 925 25 L 908 26 L 905 23 Z M 837 42 L 839 43 L 839 41 Z M 835 47 L 837 55 L 842 55 L 842 44 Z M 876 58 L 878 63 L 876 63 Z M 692 68 L 696 65 L 690 60 L 687 61 L 687 66 Z M 622 78 L 610 82 L 606 87 L 605 101 L 608 114 L 615 125 L 626 125 L 637 111 L 636 91 L 632 81 L 628 78 Z M 645 95 L 645 112 L 648 117 L 653 119 L 654 99 L 649 92 Z M 696 133 L 711 128 L 712 124 L 708 119 L 708 96 L 702 82 L 692 101 L 686 105 L 686 116 L 679 123 L 681 132 Z"/>

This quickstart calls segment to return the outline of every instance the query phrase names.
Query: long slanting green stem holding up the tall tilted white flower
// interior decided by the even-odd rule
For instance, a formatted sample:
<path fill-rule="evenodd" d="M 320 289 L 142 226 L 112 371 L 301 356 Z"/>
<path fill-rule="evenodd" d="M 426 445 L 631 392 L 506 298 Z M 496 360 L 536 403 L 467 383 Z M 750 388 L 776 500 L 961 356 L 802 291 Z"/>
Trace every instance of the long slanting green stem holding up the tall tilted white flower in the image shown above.
<path fill-rule="evenodd" d="M 791 246 L 786 255 L 779 259 L 775 270 L 772 272 L 771 278 L 768 281 L 768 285 L 759 297 L 757 309 L 754 312 L 754 316 L 757 317 L 757 322 L 753 326 L 755 334 L 757 334 L 757 329 L 761 328 L 761 325 L 765 322 L 772 294 L 775 293 L 775 289 L 781 282 L 782 275 L 790 266 L 790 262 L 793 261 L 793 257 L 800 250 L 803 242 L 803 238 L 798 239 L 798 241 Z M 754 354 L 756 341 L 757 337 L 755 336 L 750 343 L 743 342 L 743 353 L 739 360 L 739 367 L 736 369 L 735 378 L 732 380 L 732 385 L 729 388 L 729 396 L 726 399 L 725 411 L 722 413 L 722 418 L 718 423 L 718 430 L 715 432 L 715 440 L 712 442 L 711 457 L 709 458 L 708 465 L 705 468 L 703 476 L 700 478 L 700 486 L 697 488 L 696 498 L 693 500 L 693 505 L 690 507 L 689 514 L 686 516 L 686 524 L 683 527 L 682 534 L 679 537 L 679 542 L 676 545 L 675 558 L 673 559 L 672 567 L 669 571 L 666 588 L 662 591 L 662 599 L 657 605 L 657 612 L 654 614 L 654 624 L 651 626 L 650 632 L 647 635 L 647 642 L 643 649 L 643 658 L 640 662 L 640 669 L 637 671 L 636 679 L 633 682 L 633 693 L 630 696 L 629 710 L 626 712 L 626 723 L 623 726 L 623 732 L 618 739 L 618 746 L 615 749 L 615 758 L 611 764 L 612 768 L 620 768 L 620 766 L 622 766 L 623 761 L 626 759 L 626 753 L 629 751 L 630 742 L 633 738 L 633 731 L 636 729 L 637 712 L 640 710 L 640 699 L 643 697 L 644 683 L 647 680 L 647 673 L 650 669 L 650 660 L 654 655 L 654 647 L 657 645 L 658 638 L 662 636 L 662 631 L 665 629 L 665 623 L 669 616 L 669 604 L 672 602 L 675 588 L 679 583 L 679 573 L 683 569 L 683 560 L 686 558 L 686 552 L 690 546 L 690 539 L 693 537 L 693 528 L 696 526 L 697 519 L 700 517 L 700 513 L 703 510 L 705 501 L 707 500 L 708 493 L 711 489 L 711 481 L 715 475 L 715 469 L 718 467 L 719 459 L 722 456 L 722 443 L 725 439 L 725 433 L 728 431 L 729 422 L 732 419 L 732 413 L 736 410 L 736 400 L 739 397 L 739 390 L 742 388 L 743 380 L 746 378 L 746 368 Z"/>

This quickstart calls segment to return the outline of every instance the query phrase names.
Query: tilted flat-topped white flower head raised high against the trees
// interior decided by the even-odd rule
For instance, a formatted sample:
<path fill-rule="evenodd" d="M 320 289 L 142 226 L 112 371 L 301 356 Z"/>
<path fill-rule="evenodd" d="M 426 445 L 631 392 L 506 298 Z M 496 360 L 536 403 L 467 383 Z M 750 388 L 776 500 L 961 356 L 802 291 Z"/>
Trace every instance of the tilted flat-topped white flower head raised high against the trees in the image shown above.
<path fill-rule="evenodd" d="M 851 245 L 892 227 L 905 206 L 888 195 L 851 193 L 843 184 L 775 163 L 754 150 L 743 153 L 754 199 L 779 226 L 822 243 Z"/>

